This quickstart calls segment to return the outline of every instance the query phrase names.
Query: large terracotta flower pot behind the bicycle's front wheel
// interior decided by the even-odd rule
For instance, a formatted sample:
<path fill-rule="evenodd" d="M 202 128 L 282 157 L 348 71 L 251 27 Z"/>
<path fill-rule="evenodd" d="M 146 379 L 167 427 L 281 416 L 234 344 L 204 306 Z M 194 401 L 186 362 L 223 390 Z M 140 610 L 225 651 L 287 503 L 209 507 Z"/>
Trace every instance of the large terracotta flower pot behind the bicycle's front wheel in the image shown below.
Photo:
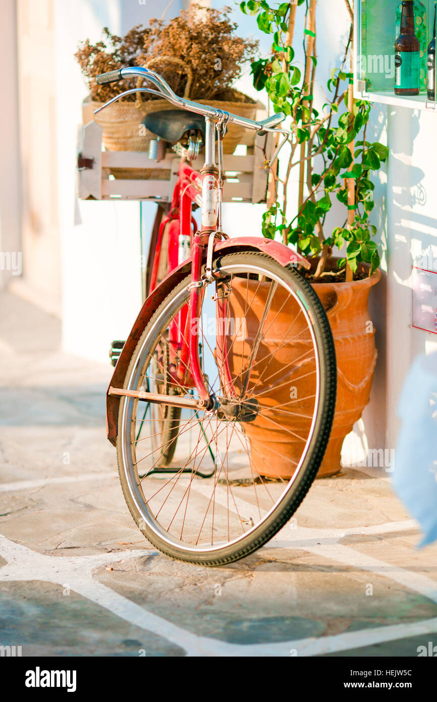
<path fill-rule="evenodd" d="M 333 262 L 331 262 L 331 265 Z M 361 264 L 366 268 L 365 265 Z M 368 267 L 367 267 L 368 270 Z M 351 283 L 317 283 L 313 284 L 316 293 L 328 314 L 332 336 L 337 355 L 337 404 L 332 425 L 330 441 L 325 457 L 318 471 L 318 477 L 335 475 L 341 470 L 340 452 L 344 438 L 351 432 L 354 423 L 361 417 L 363 409 L 369 402 L 373 371 L 377 360 L 375 348 L 375 329 L 368 312 L 368 295 L 370 288 L 381 277 L 377 270 L 371 277 Z M 269 283 L 234 279 L 232 314 L 243 317 L 246 304 L 246 287 L 249 286 L 249 299 L 255 294 L 246 318 L 246 338 L 236 337 L 233 343 L 231 371 L 238 373 L 241 358 L 248 353 L 248 344 L 255 338 L 259 320 L 264 310 L 269 292 Z M 239 303 L 241 300 L 241 305 Z M 307 437 L 314 412 L 314 360 L 304 360 L 306 352 L 311 351 L 312 342 L 302 315 L 293 324 L 293 338 L 287 343 L 290 320 L 295 319 L 299 311 L 297 303 L 274 298 L 274 304 L 267 316 L 266 338 L 257 357 L 255 382 L 262 385 L 263 404 L 273 406 L 269 398 L 269 388 L 274 390 L 275 402 L 290 407 L 290 388 L 295 388 L 295 399 L 289 413 L 281 410 L 281 425 L 259 415 L 255 422 L 246 423 L 245 432 L 250 439 L 251 460 L 254 468 L 261 475 L 269 477 L 291 477 L 295 465 L 302 454 L 302 439 Z M 271 324 L 274 320 L 274 324 Z M 299 325 L 300 322 L 300 326 Z M 270 326 L 270 329 L 269 329 Z M 300 333 L 302 332 L 302 333 Z M 285 339 L 285 343 L 283 340 Z M 243 345 L 246 344 L 246 349 Z M 275 347 L 281 346 L 272 360 L 269 354 Z M 310 353 L 311 355 L 311 353 Z M 265 358 L 265 362 L 264 359 Z M 290 369 L 291 372 L 290 372 Z M 302 377 L 300 377 L 302 376 Z M 260 388 L 258 385 L 258 389 Z M 302 399 L 301 399 L 302 398 Z M 277 422 L 278 417 L 275 416 Z M 297 437 L 297 438 L 295 438 Z"/>

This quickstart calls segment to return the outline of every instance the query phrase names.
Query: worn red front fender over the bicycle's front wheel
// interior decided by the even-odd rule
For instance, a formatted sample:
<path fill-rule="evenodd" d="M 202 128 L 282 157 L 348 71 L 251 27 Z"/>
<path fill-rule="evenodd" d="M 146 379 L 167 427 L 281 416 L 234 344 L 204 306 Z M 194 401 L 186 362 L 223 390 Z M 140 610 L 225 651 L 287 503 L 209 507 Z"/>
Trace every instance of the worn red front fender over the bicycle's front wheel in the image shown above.
<path fill-rule="evenodd" d="M 309 268 L 309 261 L 300 256 L 300 253 L 288 249 L 288 246 L 281 244 L 280 241 L 272 239 L 262 239 L 261 237 L 235 237 L 233 239 L 225 239 L 219 241 L 214 247 L 214 258 L 222 256 L 224 253 L 238 253 L 239 251 L 261 251 L 268 253 L 271 258 L 278 261 L 283 266 L 295 265 Z M 206 258 L 206 247 L 204 250 L 204 258 Z M 140 340 L 144 329 L 152 318 L 155 310 L 161 305 L 161 302 L 168 294 L 186 277 L 191 270 L 191 258 L 188 258 L 184 263 L 181 263 L 175 270 L 168 274 L 166 278 L 154 289 L 147 297 L 142 305 L 140 314 L 130 331 L 128 338 L 121 350 L 119 360 L 114 369 L 109 387 L 123 388 L 124 378 L 128 371 L 130 359 L 132 358 L 135 347 Z M 108 387 L 108 390 L 109 390 Z M 106 426 L 107 437 L 115 446 L 117 438 L 117 420 L 119 416 L 120 397 L 108 395 L 106 398 Z"/>

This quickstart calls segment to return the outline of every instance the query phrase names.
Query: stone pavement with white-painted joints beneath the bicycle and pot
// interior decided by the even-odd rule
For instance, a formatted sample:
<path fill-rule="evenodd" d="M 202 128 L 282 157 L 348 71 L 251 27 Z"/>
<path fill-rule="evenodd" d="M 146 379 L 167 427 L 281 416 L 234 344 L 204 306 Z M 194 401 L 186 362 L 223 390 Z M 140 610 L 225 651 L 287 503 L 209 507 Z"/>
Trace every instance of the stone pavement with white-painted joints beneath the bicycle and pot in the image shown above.
<path fill-rule="evenodd" d="M 105 436 L 109 363 L 62 353 L 59 323 L 7 293 L 0 351 L 0 647 L 417 656 L 437 644 L 437 546 L 415 548 L 385 473 L 316 481 L 295 519 L 229 567 L 175 562 L 123 501 Z"/>

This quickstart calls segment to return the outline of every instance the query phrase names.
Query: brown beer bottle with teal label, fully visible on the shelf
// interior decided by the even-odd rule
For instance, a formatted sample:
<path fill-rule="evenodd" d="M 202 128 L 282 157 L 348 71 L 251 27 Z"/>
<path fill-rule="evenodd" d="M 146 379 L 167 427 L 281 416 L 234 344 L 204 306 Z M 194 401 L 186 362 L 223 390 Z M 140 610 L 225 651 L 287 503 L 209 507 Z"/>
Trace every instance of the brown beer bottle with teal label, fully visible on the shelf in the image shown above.
<path fill-rule="evenodd" d="M 413 0 L 403 0 L 401 34 L 394 45 L 395 95 L 419 95 L 419 39 L 415 34 Z"/>

